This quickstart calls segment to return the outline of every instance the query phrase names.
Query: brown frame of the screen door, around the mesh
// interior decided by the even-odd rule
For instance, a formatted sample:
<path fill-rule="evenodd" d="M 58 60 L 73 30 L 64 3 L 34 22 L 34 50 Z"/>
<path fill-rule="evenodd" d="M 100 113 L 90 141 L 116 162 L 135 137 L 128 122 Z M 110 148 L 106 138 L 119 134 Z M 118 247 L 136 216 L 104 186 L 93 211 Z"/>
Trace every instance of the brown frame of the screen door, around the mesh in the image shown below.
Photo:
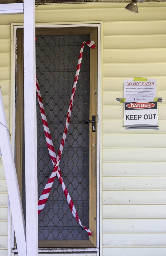
<path fill-rule="evenodd" d="M 17 54 L 21 55 L 22 52 L 22 36 L 23 36 L 23 30 L 18 29 L 18 33 L 21 34 L 17 38 Z M 37 28 L 36 29 L 36 35 L 56 35 L 56 34 L 90 34 L 90 40 L 94 40 L 96 44 L 96 49 L 90 51 L 90 118 L 92 115 L 96 115 L 96 129 L 97 129 L 97 101 L 98 101 L 98 83 L 97 83 L 97 60 L 98 60 L 98 48 L 97 48 L 97 41 L 98 41 L 98 28 L 97 27 L 59 27 L 59 28 Z M 18 34 L 17 34 L 18 35 Z M 19 40 L 20 38 L 20 40 Z M 20 47 L 21 48 L 20 48 Z M 22 63 L 22 58 L 17 58 L 17 65 L 20 65 Z M 93 67 L 93 68 L 92 68 Z M 20 134 L 22 134 L 22 119 L 23 119 L 23 113 L 21 113 L 20 109 L 22 109 L 20 106 L 22 105 L 23 100 L 23 94 L 22 93 L 22 77 L 23 74 L 20 75 L 20 72 L 23 69 L 17 69 L 16 72 L 16 86 L 17 86 L 17 102 L 16 102 L 16 139 L 15 139 L 15 149 L 16 149 L 16 157 L 18 165 L 17 165 L 17 175 L 19 180 L 19 185 L 21 188 L 22 183 L 22 165 L 21 160 L 22 159 L 22 152 L 20 151 L 20 147 L 22 145 Z M 18 104 L 17 104 L 18 103 Z M 19 105 L 19 108 L 18 108 Z M 17 131 L 17 127 L 18 131 Z M 91 124 L 90 124 L 90 131 L 91 131 Z M 39 247 L 46 247 L 46 248 L 55 248 L 55 247 L 61 247 L 61 248 L 95 248 L 97 247 L 97 132 L 92 133 L 90 132 L 90 151 L 92 154 L 89 158 L 89 229 L 92 230 L 92 236 L 89 238 L 89 240 L 39 240 Z M 99 143 L 99 142 L 98 142 Z M 79 243 L 79 246 L 77 245 Z"/>

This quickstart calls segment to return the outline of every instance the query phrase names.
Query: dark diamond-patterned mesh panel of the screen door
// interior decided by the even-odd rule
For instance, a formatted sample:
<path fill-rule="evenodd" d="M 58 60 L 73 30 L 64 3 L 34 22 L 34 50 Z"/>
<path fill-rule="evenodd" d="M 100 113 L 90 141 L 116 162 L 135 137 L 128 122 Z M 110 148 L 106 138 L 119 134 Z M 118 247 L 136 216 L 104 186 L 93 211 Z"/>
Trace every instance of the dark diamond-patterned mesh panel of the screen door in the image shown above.
<path fill-rule="evenodd" d="M 89 35 L 37 36 L 36 72 L 53 145 L 57 154 L 68 111 L 80 47 Z M 84 47 L 73 111 L 60 161 L 64 183 L 78 215 L 89 227 L 89 47 Z M 37 100 L 38 103 L 38 100 Z M 44 136 L 37 104 L 38 198 L 53 165 Z M 25 214 L 25 164 L 23 161 L 22 202 Z M 73 217 L 63 190 L 55 178 L 44 210 L 39 214 L 39 239 L 88 239 L 87 232 Z"/>

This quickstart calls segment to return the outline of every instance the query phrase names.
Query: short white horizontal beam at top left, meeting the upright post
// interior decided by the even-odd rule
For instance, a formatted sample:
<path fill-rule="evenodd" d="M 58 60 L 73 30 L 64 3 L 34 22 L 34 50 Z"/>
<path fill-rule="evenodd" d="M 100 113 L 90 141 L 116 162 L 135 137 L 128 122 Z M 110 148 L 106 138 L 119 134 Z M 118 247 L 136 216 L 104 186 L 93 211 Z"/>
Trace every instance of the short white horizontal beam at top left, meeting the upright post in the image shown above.
<path fill-rule="evenodd" d="M 23 14 L 23 3 L 16 4 L 0 4 L 0 14 Z"/>

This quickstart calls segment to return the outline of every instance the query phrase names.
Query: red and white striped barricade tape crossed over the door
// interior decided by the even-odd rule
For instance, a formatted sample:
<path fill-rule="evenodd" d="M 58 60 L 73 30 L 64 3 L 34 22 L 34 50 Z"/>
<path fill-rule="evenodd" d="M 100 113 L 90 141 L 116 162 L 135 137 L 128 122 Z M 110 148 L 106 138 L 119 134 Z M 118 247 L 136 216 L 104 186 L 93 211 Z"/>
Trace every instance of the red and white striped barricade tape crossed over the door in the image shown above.
<path fill-rule="evenodd" d="M 58 151 L 57 158 L 56 158 L 56 154 L 55 154 L 53 143 L 52 143 L 52 139 L 51 139 L 50 130 L 49 130 L 49 127 L 48 127 L 46 116 L 45 116 L 45 111 L 44 111 L 44 107 L 43 107 L 43 103 L 42 103 L 42 98 L 41 98 L 41 94 L 40 94 L 40 90 L 39 90 L 38 80 L 36 78 L 36 91 L 37 91 L 37 96 L 38 96 L 38 101 L 39 101 L 40 112 L 41 112 L 41 116 L 42 116 L 44 133 L 45 133 L 46 142 L 47 142 L 48 150 L 49 150 L 49 153 L 50 153 L 50 157 L 51 157 L 52 163 L 54 165 L 53 172 L 52 172 L 52 174 L 51 174 L 47 184 L 45 185 L 45 187 L 43 189 L 43 192 L 42 192 L 42 194 L 41 194 L 41 196 L 40 196 L 40 198 L 38 200 L 38 215 L 39 215 L 39 213 L 44 208 L 44 205 L 45 205 L 45 203 L 46 203 L 46 201 L 47 201 L 47 199 L 49 197 L 49 194 L 50 194 L 51 187 L 53 185 L 55 176 L 57 174 L 58 179 L 59 179 L 59 181 L 61 183 L 62 189 L 64 191 L 65 197 L 67 199 L 67 203 L 69 205 L 70 210 L 72 211 L 73 216 L 78 221 L 80 226 L 82 226 L 88 232 L 88 235 L 91 236 L 91 231 L 87 227 L 82 225 L 82 223 L 81 223 L 81 221 L 80 221 L 80 219 L 78 217 L 76 208 L 75 208 L 75 206 L 73 204 L 73 201 L 72 201 L 72 199 L 71 199 L 71 197 L 70 197 L 70 195 L 69 195 L 69 193 L 67 191 L 67 188 L 66 188 L 66 186 L 65 186 L 65 184 L 63 182 L 61 170 L 59 168 L 59 162 L 60 162 L 60 159 L 61 159 L 61 155 L 62 155 L 62 151 L 63 151 L 63 146 L 64 146 L 65 139 L 66 139 L 66 134 L 67 134 L 67 131 L 68 131 L 68 125 L 69 125 L 69 122 L 70 122 L 70 116 L 71 116 L 71 112 L 72 112 L 72 108 L 73 108 L 76 84 L 77 84 L 77 80 L 78 80 L 78 76 L 79 76 L 79 72 L 80 72 L 81 60 L 82 60 L 82 52 L 83 52 L 83 49 L 84 49 L 84 44 L 87 44 L 90 48 L 93 48 L 93 49 L 95 48 L 94 41 L 83 42 L 83 44 L 81 46 L 80 54 L 79 54 L 79 58 L 78 58 L 77 70 L 76 70 L 74 84 L 73 84 L 72 95 L 71 95 L 71 98 L 70 98 L 70 104 L 69 104 L 69 109 L 68 109 L 68 113 L 67 113 L 65 129 L 64 129 L 63 136 L 62 136 L 61 145 L 60 145 L 60 148 L 59 148 L 59 151 Z"/>

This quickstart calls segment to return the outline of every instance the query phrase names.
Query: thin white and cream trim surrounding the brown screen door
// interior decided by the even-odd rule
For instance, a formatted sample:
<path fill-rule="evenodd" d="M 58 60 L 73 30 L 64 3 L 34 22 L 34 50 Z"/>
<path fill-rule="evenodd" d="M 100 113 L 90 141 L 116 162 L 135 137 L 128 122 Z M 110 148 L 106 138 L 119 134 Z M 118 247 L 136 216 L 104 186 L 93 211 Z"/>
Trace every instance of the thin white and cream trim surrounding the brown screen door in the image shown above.
<path fill-rule="evenodd" d="M 102 65 L 101 65 L 101 52 L 102 52 L 102 48 L 101 48 L 101 40 L 102 40 L 102 35 L 101 35 L 101 26 L 102 22 L 97 22 L 95 21 L 94 23 L 93 22 L 78 22 L 77 24 L 74 24 L 74 23 L 61 23 L 61 24 L 42 24 L 42 25 L 39 25 L 39 24 L 36 24 L 35 27 L 45 27 L 45 28 L 48 28 L 48 27 L 98 27 L 98 109 L 97 109 L 97 112 L 98 112 L 98 117 L 99 117 L 99 122 L 97 124 L 97 129 L 98 131 L 100 130 L 100 132 L 98 132 L 97 134 L 97 248 L 88 248 L 88 249 L 76 249 L 76 252 L 78 251 L 99 251 L 99 246 L 101 246 L 101 243 L 100 243 L 100 240 L 102 239 L 102 230 L 101 230 L 101 225 L 102 225 L 102 216 L 101 216 L 101 134 L 102 134 L 102 130 L 101 130 L 101 116 L 100 116 L 100 113 L 101 112 L 101 98 L 102 98 L 102 87 L 101 87 L 101 81 L 102 81 Z M 14 36 L 13 36 L 13 42 L 14 42 L 14 47 L 13 47 L 13 53 L 15 53 L 15 42 L 16 42 L 16 28 L 23 28 L 23 25 L 20 25 L 20 24 L 11 24 L 14 28 Z M 15 65 L 13 65 L 15 66 Z M 15 78 L 13 79 L 13 87 L 15 87 Z M 15 102 L 13 103 L 15 104 Z M 15 108 L 15 107 L 14 107 Z M 100 234 L 100 235 L 99 235 Z M 13 248 L 14 248 L 14 244 L 13 245 Z M 101 247 L 102 248 L 102 247 Z M 75 249 L 74 249 L 75 250 Z M 73 250 L 73 251 L 74 251 Z M 47 252 L 49 252 L 49 249 L 46 250 Z M 53 251 L 56 251 L 56 252 L 61 252 L 62 250 L 61 249 L 55 249 L 55 250 L 51 250 L 52 252 Z M 71 251 L 70 249 L 65 249 L 66 252 L 69 252 Z M 13 250 L 13 252 L 17 252 L 17 249 Z M 39 252 L 42 252 L 41 249 L 39 249 Z"/>

